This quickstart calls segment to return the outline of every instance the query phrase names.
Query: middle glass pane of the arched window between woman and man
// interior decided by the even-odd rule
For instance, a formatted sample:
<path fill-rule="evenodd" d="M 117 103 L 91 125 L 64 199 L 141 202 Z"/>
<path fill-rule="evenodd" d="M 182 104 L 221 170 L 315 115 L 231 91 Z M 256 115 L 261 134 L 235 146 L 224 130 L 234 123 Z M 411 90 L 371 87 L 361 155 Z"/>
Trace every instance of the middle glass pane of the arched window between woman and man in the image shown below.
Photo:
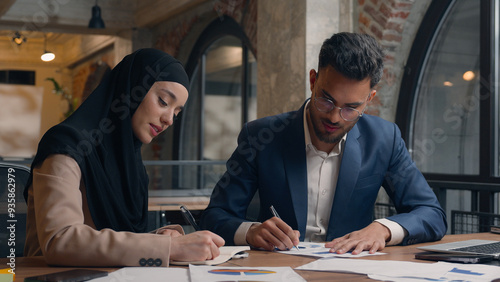
<path fill-rule="evenodd" d="M 241 40 L 225 36 L 206 53 L 203 159 L 226 160 L 236 148 L 242 124 Z"/>

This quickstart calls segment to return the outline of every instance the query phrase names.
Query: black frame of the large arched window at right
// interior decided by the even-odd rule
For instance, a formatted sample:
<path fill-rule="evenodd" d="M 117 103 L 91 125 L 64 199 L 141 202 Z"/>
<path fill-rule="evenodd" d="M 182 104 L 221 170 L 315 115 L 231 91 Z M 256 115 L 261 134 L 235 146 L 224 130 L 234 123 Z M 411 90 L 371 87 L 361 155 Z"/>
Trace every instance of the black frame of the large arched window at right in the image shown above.
<path fill-rule="evenodd" d="M 429 48 L 435 40 L 443 19 L 448 15 L 456 0 L 432 1 L 415 36 L 413 46 L 404 67 L 396 111 L 396 124 L 401 129 L 410 153 L 413 150 L 413 124 L 418 100 L 418 87 L 422 71 L 426 64 Z M 492 20 L 498 21 L 499 0 L 480 2 L 480 136 L 479 136 L 479 174 L 458 175 L 441 173 L 423 173 L 431 187 L 437 188 L 438 198 L 444 207 L 446 189 L 476 191 L 472 196 L 472 209 L 492 212 L 494 194 L 500 192 L 498 164 L 494 154 L 498 155 L 498 29 L 493 28 Z M 496 61 L 494 60 L 496 57 Z M 486 97 L 486 98 L 484 98 Z M 497 156 L 495 155 L 495 156 Z"/>

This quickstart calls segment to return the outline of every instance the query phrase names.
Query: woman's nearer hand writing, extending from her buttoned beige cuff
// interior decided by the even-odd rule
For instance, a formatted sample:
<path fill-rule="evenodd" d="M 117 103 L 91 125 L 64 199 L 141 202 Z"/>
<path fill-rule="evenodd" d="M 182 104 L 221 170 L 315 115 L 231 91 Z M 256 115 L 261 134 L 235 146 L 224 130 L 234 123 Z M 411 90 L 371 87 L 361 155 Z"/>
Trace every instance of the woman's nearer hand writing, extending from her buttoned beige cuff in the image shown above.
<path fill-rule="evenodd" d="M 177 261 L 201 261 L 219 256 L 224 239 L 210 231 L 197 231 L 185 236 L 172 237 L 170 259 Z"/>

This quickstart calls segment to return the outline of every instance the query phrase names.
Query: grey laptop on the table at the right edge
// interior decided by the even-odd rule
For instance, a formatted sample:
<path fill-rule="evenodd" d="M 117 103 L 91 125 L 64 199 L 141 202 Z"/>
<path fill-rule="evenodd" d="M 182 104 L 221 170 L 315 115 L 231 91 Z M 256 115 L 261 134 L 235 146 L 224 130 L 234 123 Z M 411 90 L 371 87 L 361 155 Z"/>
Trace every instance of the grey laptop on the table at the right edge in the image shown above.
<path fill-rule="evenodd" d="M 417 247 L 419 250 L 452 254 L 481 254 L 500 259 L 500 241 L 492 240 L 465 240 L 452 243 L 443 243 Z"/>

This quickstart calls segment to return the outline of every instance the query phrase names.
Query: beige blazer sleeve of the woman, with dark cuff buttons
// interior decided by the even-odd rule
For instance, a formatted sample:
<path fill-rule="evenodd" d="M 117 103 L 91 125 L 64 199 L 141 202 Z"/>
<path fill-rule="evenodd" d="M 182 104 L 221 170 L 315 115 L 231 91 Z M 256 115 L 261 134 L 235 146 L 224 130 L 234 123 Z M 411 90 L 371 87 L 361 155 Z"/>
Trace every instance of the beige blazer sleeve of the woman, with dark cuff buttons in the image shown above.
<path fill-rule="evenodd" d="M 77 163 L 64 155 L 50 156 L 33 171 L 36 231 L 48 264 L 168 266 L 170 236 L 85 224 L 80 179 Z"/>

